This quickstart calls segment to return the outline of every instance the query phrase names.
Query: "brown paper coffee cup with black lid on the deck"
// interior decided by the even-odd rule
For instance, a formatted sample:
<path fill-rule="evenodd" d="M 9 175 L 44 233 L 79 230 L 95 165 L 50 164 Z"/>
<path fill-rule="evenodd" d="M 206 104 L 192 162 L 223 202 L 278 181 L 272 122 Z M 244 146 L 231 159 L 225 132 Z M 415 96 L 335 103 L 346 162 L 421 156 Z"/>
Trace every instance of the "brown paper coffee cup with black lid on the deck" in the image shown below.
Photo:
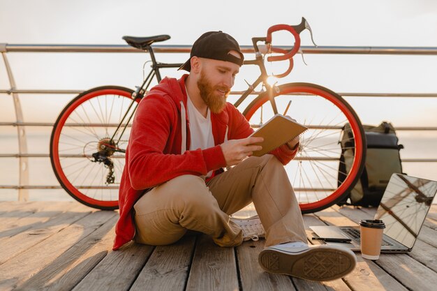
<path fill-rule="evenodd" d="M 384 228 L 384 222 L 378 219 L 360 221 L 362 258 L 378 260 L 381 253 L 381 245 L 383 244 Z"/>

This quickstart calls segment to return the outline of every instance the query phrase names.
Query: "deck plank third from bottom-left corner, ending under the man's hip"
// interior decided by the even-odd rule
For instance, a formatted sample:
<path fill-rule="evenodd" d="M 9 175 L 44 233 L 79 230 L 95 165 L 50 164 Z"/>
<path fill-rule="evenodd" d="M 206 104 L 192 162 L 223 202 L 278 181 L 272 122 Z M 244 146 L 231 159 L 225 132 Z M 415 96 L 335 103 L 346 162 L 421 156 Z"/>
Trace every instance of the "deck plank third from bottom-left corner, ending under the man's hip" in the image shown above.
<path fill-rule="evenodd" d="M 131 241 L 108 253 L 73 290 L 128 290 L 153 250 L 153 246 Z"/>

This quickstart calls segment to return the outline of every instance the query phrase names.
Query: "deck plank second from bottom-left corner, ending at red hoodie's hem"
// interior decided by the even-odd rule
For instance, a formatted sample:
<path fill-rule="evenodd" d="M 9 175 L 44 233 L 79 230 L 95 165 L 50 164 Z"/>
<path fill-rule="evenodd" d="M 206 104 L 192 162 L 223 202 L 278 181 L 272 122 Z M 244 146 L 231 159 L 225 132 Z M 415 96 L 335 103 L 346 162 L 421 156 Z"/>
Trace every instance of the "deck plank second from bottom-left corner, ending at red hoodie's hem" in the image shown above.
<path fill-rule="evenodd" d="M 29 278 L 17 290 L 71 290 L 105 258 L 114 241 L 114 225 L 118 215 L 112 217 L 89 234 L 35 276 Z"/>

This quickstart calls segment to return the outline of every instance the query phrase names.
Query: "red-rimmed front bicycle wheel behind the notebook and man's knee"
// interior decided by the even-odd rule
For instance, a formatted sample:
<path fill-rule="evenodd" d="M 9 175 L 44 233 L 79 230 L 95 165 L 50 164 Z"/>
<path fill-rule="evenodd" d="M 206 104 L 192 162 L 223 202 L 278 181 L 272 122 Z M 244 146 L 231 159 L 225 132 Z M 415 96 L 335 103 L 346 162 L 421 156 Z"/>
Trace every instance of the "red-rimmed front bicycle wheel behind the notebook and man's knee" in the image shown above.
<path fill-rule="evenodd" d="M 346 100 L 325 87 L 310 83 L 288 83 L 277 88 L 274 93 L 276 106 L 286 107 L 288 100 L 294 101 L 288 115 L 309 126 L 309 130 L 300 137 L 295 159 L 286 165 L 299 207 L 303 214 L 323 210 L 339 202 L 360 179 L 366 157 L 366 140 L 361 121 Z M 243 114 L 251 124 L 254 119 L 262 118 L 266 110 L 272 117 L 273 110 L 269 104 L 268 94 L 263 92 L 246 107 Z M 282 113 L 280 109 L 278 111 Z M 336 114 L 331 120 L 321 117 L 322 113 L 331 112 Z M 310 117 L 304 117 L 304 114 L 309 114 L 311 120 Z M 329 124 L 325 124 L 326 121 Z M 258 124 L 262 122 L 261 119 Z M 348 151 L 354 155 L 353 165 L 348 172 L 342 173 L 344 180 L 339 181 L 342 153 L 339 141 L 341 128 L 347 123 L 353 128 L 353 151 Z M 335 135 L 339 136 L 338 140 L 335 140 Z M 313 172 L 308 174 L 307 171 Z M 296 187 L 296 184 L 299 185 Z"/>

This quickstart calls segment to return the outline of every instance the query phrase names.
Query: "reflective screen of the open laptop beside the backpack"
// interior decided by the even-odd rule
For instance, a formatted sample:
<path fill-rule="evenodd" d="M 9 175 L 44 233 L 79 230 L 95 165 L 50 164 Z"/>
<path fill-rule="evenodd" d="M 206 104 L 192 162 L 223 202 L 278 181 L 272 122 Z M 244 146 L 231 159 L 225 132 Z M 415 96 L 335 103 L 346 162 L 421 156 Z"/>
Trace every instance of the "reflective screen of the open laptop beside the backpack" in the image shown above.
<path fill-rule="evenodd" d="M 437 192 L 437 181 L 392 174 L 375 219 L 385 223 L 384 233 L 413 248 Z"/>

